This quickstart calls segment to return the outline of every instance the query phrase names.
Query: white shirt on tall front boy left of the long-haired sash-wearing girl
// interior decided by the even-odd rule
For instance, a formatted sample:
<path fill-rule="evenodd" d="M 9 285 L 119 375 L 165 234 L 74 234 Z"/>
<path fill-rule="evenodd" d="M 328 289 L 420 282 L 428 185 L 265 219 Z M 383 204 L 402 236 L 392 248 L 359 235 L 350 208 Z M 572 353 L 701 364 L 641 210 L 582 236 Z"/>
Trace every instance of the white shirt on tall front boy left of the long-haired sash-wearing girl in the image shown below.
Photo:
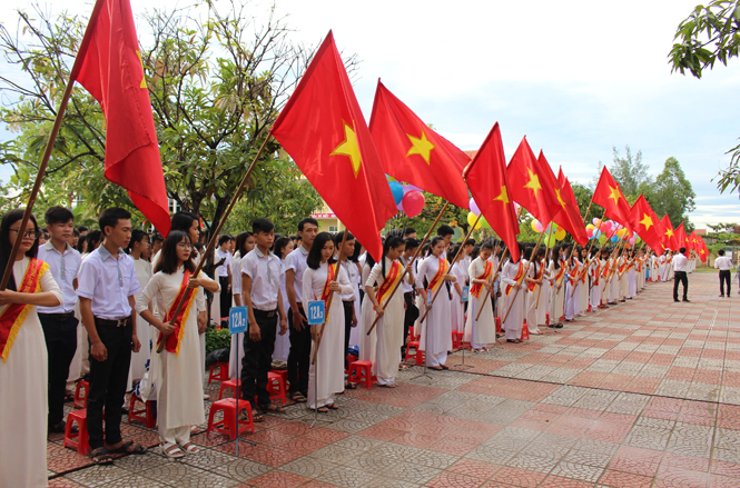
<path fill-rule="evenodd" d="M 92 300 L 92 315 L 106 320 L 130 316 L 128 297 L 141 291 L 134 259 L 122 249 L 115 259 L 102 246 L 82 262 L 77 282 L 77 295 Z"/>

